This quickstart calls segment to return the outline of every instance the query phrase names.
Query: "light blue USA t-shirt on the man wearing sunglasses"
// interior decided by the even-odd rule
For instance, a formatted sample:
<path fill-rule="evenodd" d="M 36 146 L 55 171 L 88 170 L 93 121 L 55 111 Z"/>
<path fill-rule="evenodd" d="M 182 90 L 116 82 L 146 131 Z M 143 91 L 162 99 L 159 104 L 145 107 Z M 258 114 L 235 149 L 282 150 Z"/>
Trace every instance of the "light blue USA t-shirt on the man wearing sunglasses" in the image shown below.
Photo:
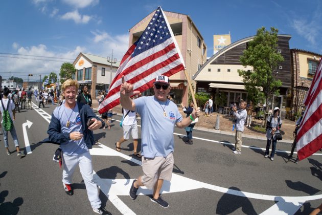
<path fill-rule="evenodd" d="M 174 149 L 174 126 L 182 121 L 177 105 L 170 100 L 158 101 L 154 96 L 134 99 L 134 103 L 142 122 L 142 155 L 167 157 Z"/>

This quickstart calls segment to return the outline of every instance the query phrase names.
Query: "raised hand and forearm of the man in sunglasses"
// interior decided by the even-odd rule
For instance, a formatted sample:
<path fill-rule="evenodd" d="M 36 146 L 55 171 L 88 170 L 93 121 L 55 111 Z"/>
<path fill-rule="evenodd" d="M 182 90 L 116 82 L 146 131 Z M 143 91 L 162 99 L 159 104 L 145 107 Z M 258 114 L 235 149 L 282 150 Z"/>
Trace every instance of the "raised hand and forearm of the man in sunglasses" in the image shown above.
<path fill-rule="evenodd" d="M 120 103 L 123 108 L 130 111 L 135 111 L 135 103 L 131 99 L 131 96 L 140 93 L 140 91 L 133 91 L 133 89 L 133 85 L 128 82 L 125 82 L 124 76 L 122 76 L 122 84 L 120 89 Z"/>

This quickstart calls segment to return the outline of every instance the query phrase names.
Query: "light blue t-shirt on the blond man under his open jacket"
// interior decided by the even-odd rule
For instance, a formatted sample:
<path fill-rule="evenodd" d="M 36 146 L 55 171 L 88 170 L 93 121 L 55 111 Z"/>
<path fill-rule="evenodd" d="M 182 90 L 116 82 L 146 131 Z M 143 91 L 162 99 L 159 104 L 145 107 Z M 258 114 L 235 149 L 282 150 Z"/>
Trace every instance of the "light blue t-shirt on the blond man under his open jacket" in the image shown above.
<path fill-rule="evenodd" d="M 82 133 L 82 120 L 79 115 L 78 105 L 73 109 L 65 107 L 64 104 L 56 107 L 54 116 L 59 120 L 61 133 Z M 70 117 L 71 116 L 71 117 Z M 66 126 L 68 118 L 70 117 L 70 126 Z M 69 140 L 60 144 L 61 150 L 66 155 L 80 155 L 88 151 L 85 144 L 84 137 L 80 140 Z"/>

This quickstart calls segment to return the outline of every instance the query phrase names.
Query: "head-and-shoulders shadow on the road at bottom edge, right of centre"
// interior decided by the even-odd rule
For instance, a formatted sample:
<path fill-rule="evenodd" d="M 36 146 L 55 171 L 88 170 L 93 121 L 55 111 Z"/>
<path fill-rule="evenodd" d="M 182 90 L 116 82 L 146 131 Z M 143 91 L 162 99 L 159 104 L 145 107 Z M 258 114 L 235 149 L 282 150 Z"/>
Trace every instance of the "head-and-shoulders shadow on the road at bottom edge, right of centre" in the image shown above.
<path fill-rule="evenodd" d="M 240 191 L 237 187 L 229 187 Z M 229 214 L 241 208 L 244 214 L 258 214 L 247 197 L 225 193 L 217 203 L 216 214 Z"/>

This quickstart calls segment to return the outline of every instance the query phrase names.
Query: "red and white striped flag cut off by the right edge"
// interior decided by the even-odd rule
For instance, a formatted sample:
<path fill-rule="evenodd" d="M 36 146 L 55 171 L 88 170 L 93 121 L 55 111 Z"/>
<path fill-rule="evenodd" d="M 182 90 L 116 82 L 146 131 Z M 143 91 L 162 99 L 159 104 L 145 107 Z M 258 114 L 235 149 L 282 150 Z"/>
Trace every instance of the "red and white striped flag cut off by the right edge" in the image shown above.
<path fill-rule="evenodd" d="M 306 110 L 297 131 L 298 160 L 303 160 L 322 148 L 322 61 L 316 70 L 311 87 L 306 94 Z"/>

